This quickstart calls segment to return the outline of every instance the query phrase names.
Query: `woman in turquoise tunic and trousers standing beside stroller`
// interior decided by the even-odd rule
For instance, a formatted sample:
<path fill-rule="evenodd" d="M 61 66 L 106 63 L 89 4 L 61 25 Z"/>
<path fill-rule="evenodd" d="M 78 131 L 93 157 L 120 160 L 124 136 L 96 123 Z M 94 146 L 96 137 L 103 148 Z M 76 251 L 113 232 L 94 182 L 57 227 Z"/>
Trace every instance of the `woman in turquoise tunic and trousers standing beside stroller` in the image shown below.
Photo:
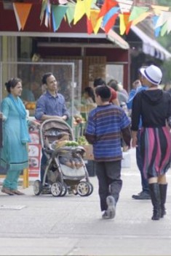
<path fill-rule="evenodd" d="M 7 169 L 7 176 L 1 192 L 8 195 L 23 195 L 23 192 L 17 190 L 17 182 L 21 171 L 28 167 L 30 137 L 25 106 L 20 99 L 22 81 L 20 78 L 12 78 L 5 86 L 9 94 L 1 102 L 4 123 L 1 166 Z"/>

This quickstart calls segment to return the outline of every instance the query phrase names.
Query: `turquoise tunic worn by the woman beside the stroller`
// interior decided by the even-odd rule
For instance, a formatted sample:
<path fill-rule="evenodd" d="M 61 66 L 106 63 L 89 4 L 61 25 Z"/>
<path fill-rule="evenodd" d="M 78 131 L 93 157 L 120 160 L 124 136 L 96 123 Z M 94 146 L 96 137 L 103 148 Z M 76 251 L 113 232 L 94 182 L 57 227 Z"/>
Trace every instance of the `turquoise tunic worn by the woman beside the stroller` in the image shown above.
<path fill-rule="evenodd" d="M 9 97 L 1 102 L 4 116 L 3 148 L 1 166 L 9 170 L 23 170 L 28 167 L 28 143 L 20 140 L 20 116 Z"/>

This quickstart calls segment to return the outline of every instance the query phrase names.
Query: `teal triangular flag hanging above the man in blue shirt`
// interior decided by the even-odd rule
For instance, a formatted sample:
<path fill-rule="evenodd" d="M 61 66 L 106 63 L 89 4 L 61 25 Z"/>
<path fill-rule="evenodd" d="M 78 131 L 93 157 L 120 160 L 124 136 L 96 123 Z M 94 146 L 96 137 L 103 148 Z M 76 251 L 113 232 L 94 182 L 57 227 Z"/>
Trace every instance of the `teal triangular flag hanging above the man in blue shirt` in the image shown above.
<path fill-rule="evenodd" d="M 65 5 L 52 4 L 53 31 L 57 31 L 57 29 L 59 29 L 60 23 L 63 20 L 63 17 L 65 16 L 67 8 L 68 7 Z"/>

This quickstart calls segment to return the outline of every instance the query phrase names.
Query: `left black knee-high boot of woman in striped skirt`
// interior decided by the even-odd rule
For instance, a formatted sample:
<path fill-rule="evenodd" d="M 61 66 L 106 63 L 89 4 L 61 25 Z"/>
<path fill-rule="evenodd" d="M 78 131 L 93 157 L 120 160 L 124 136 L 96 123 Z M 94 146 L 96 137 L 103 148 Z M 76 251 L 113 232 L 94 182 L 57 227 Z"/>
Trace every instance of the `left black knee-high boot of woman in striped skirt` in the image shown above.
<path fill-rule="evenodd" d="M 159 184 L 152 183 L 149 184 L 150 194 L 151 194 L 151 202 L 154 206 L 154 214 L 151 217 L 153 220 L 160 219 L 160 191 L 159 191 Z"/>

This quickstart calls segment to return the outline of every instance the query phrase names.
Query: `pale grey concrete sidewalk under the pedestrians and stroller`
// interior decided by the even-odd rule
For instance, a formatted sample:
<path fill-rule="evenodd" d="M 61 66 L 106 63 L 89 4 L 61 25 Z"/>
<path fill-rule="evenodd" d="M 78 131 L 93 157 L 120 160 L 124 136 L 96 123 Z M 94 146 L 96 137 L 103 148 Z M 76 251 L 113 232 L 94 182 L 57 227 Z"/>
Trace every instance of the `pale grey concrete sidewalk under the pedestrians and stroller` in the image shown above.
<path fill-rule="evenodd" d="M 115 219 L 101 219 L 96 177 L 89 197 L 35 196 L 32 185 L 23 196 L 0 192 L 0 255 L 171 255 L 171 172 L 167 215 L 152 221 L 151 200 L 132 199 L 141 187 L 130 154 Z"/>

